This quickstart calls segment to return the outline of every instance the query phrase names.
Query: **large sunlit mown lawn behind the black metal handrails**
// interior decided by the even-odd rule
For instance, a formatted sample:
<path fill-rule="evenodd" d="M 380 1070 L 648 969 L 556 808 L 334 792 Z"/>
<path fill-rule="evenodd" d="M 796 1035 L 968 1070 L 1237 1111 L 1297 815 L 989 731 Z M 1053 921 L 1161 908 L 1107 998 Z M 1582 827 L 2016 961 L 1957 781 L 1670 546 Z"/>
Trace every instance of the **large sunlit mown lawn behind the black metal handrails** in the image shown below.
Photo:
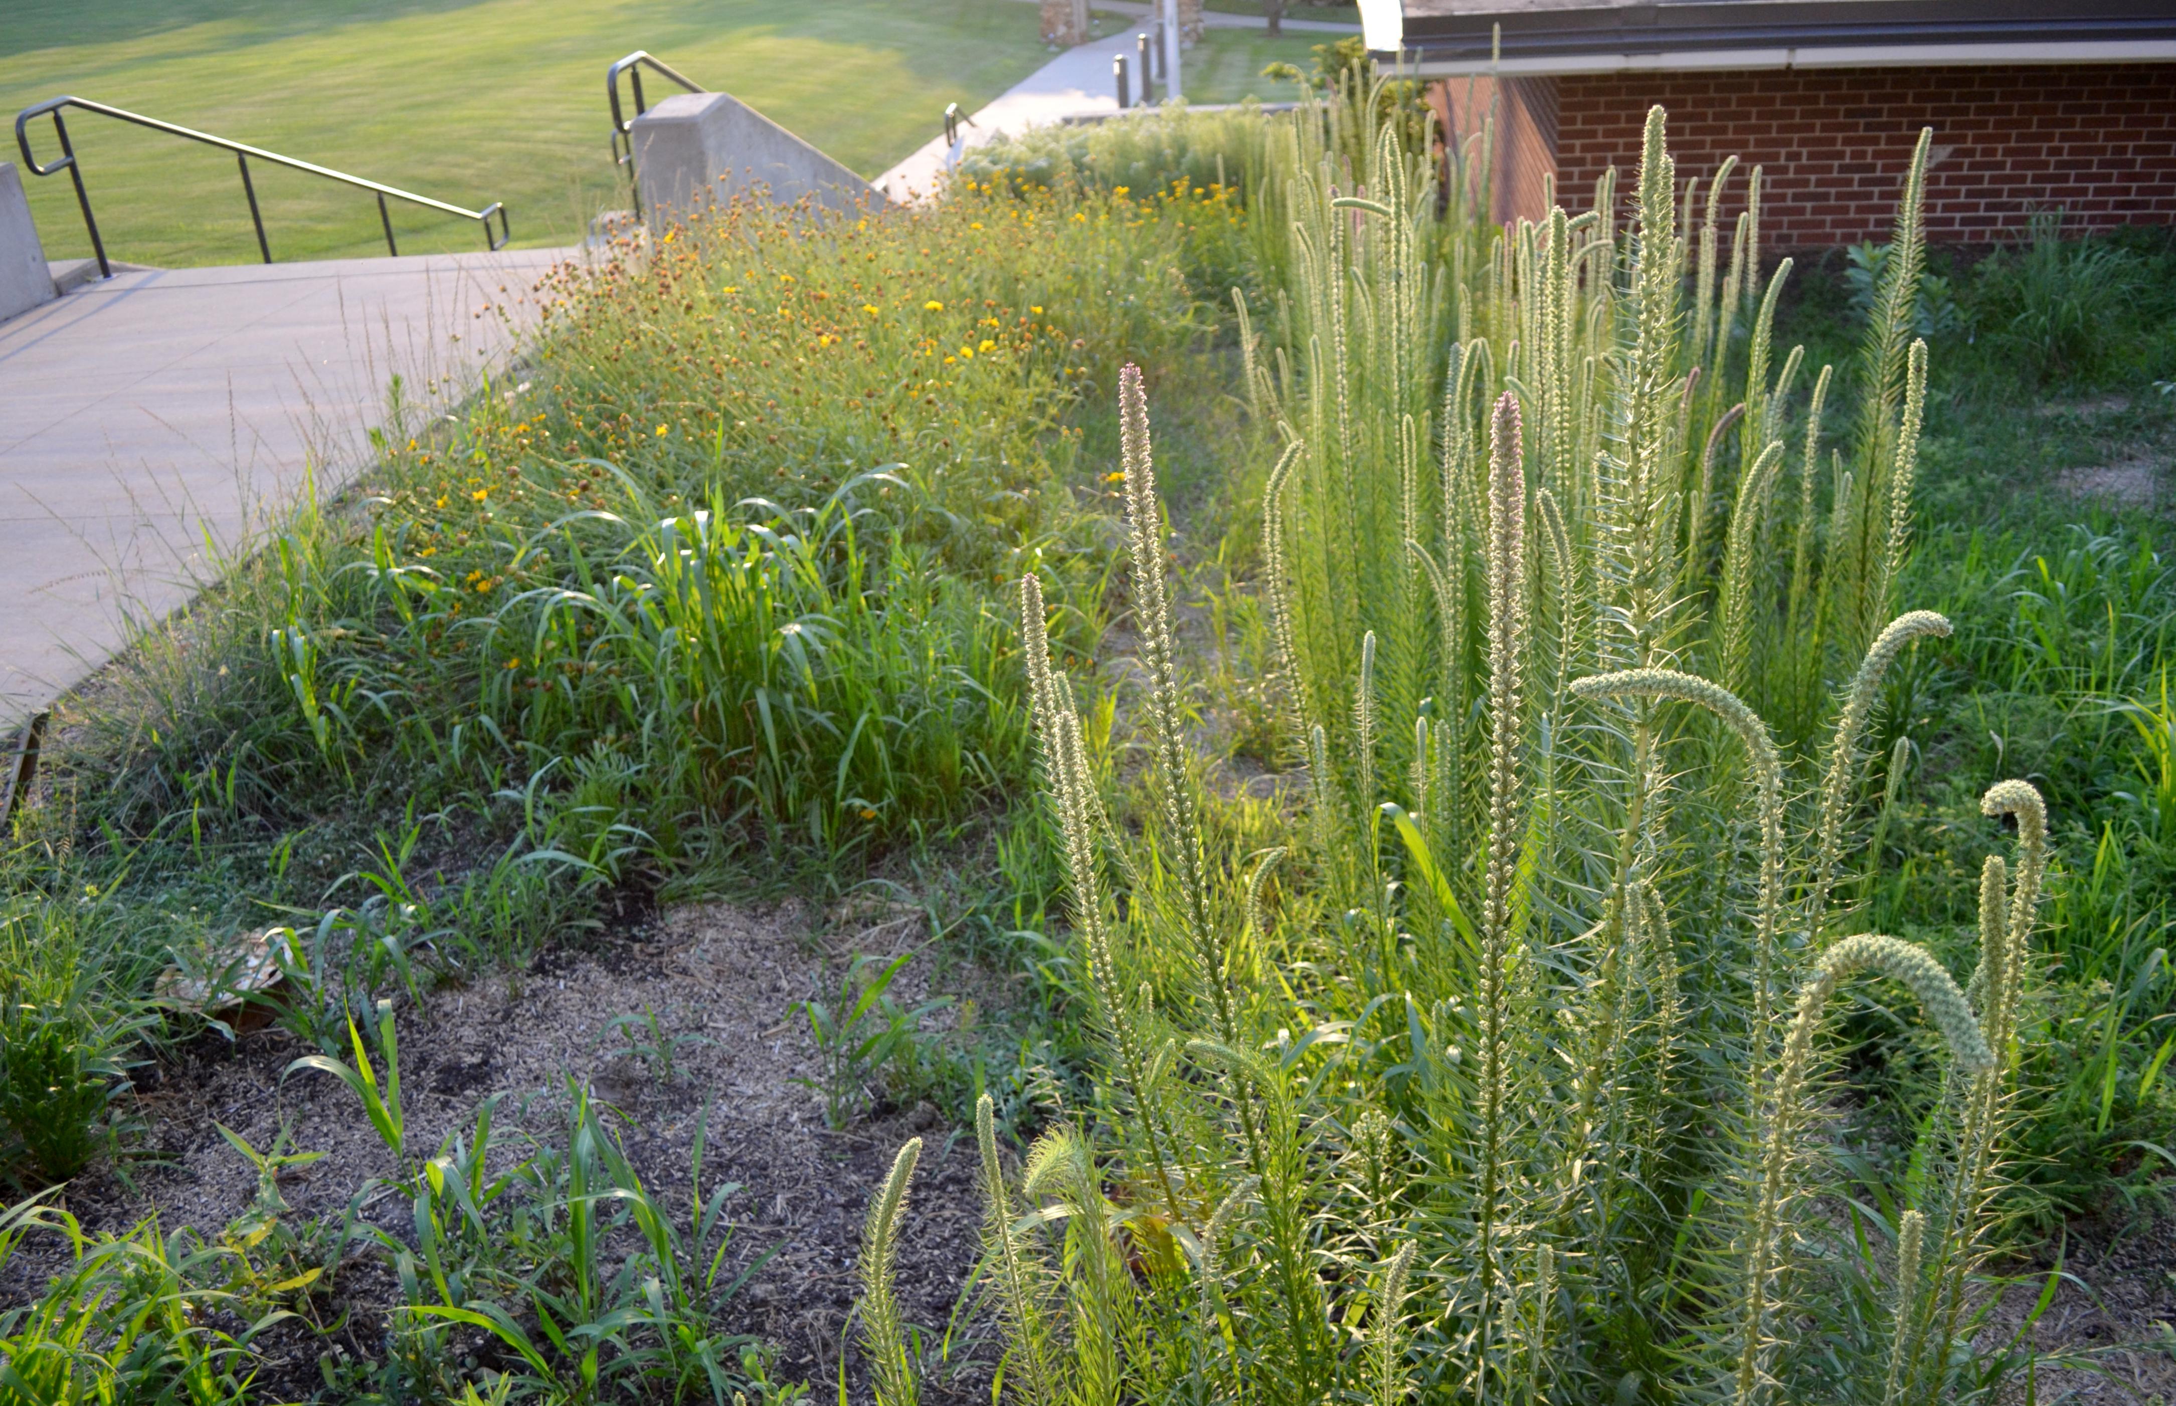
<path fill-rule="evenodd" d="M 331 165 L 470 209 L 503 200 L 516 244 L 566 244 L 616 202 L 605 65 L 646 48 L 875 176 L 1049 59 L 1018 0 L 113 0 L 7 7 L 0 113 L 59 94 Z M 1260 70 L 1260 63 L 1256 63 Z M 670 89 L 668 89 L 670 91 Z M 255 257 L 235 163 L 81 115 L 107 252 L 152 266 Z M 39 159 L 52 128 L 33 133 Z M 9 152 L 15 159 L 15 152 Z M 368 196 L 255 170 L 274 259 L 383 252 Z M 89 255 L 65 176 L 26 176 L 50 259 Z M 481 244 L 394 209 L 400 252 Z"/>

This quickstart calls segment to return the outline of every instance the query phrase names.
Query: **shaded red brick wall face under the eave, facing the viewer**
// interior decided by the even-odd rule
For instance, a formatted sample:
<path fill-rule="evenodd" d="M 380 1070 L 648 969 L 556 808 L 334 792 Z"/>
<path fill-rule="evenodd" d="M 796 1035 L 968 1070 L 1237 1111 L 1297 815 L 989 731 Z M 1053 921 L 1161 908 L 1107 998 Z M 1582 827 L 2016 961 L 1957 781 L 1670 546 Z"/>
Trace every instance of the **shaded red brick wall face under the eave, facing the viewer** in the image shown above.
<path fill-rule="evenodd" d="M 1454 81 L 1458 83 L 1458 81 Z M 1887 237 L 1904 165 L 1934 128 L 1928 237 L 1989 244 L 2035 207 L 2065 229 L 2176 224 L 2176 63 L 1573 74 L 1556 83 L 1556 183 L 1578 209 L 1619 168 L 1630 192 L 1647 107 L 1669 109 L 1678 174 L 1763 165 L 1771 250 Z M 1519 211 L 1532 213 L 1532 211 Z"/>

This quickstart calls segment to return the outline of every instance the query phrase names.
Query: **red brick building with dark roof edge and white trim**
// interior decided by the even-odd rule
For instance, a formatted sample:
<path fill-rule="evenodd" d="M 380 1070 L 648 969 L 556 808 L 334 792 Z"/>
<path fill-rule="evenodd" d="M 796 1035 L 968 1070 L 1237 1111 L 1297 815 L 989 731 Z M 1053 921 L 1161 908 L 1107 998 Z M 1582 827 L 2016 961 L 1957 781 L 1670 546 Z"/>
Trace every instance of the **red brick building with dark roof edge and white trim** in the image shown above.
<path fill-rule="evenodd" d="M 1495 215 L 1578 209 L 1669 109 L 1682 176 L 1763 168 L 1771 250 L 1887 235 L 1921 126 L 1928 237 L 2176 224 L 2176 0 L 1362 0 L 1382 63 L 1495 118 Z"/>

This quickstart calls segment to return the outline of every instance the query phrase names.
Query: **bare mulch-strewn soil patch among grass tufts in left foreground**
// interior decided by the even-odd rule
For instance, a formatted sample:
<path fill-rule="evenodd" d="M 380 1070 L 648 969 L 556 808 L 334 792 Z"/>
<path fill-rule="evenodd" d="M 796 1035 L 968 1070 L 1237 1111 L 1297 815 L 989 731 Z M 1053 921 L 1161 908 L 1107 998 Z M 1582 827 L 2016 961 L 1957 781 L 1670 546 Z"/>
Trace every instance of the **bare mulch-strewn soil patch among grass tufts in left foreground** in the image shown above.
<path fill-rule="evenodd" d="M 494 973 L 403 1003 L 409 1145 L 435 1149 L 448 1134 L 466 1132 L 490 1095 L 505 1095 L 500 1123 L 557 1140 L 566 1082 L 577 1080 L 616 1110 L 611 1127 L 657 1199 L 685 1208 L 692 1143 L 707 1106 L 705 1193 L 720 1182 L 742 1184 L 731 1201 L 731 1256 L 749 1265 L 777 1247 L 733 1299 L 725 1328 L 775 1343 L 775 1378 L 809 1382 L 823 1395 L 838 1373 L 870 1195 L 899 1145 L 923 1136 L 899 1251 L 899 1297 L 925 1341 L 940 1341 L 977 1249 L 973 1134 L 957 1136 L 929 1103 L 879 1108 L 844 1132 L 827 1130 L 820 1097 L 796 1084 L 814 1080 L 818 1064 L 807 1023 L 790 1010 L 827 986 L 836 992 L 825 949 L 905 951 L 927 929 L 897 912 L 875 925 L 868 912 L 838 916 L 842 923 L 827 932 L 794 901 L 681 908 L 590 951 L 546 951 L 529 971 Z M 925 984 L 916 969 L 927 962 L 912 962 L 894 990 L 905 995 L 910 975 L 914 986 Z M 703 1038 L 679 1051 L 670 1082 L 616 1053 L 627 1038 L 609 1032 L 614 1016 L 646 1010 L 666 1034 Z M 233 1045 L 207 1036 L 181 1049 L 148 1071 L 139 1095 L 148 1123 L 141 1143 L 154 1160 L 137 1162 L 128 1180 L 113 1173 L 78 1180 L 63 1204 L 96 1232 L 120 1234 L 157 1214 L 165 1232 L 191 1225 L 218 1236 L 257 1191 L 257 1173 L 215 1127 L 224 1123 L 259 1149 L 285 1127 L 296 1149 L 324 1151 L 283 1180 L 281 1191 L 296 1223 L 337 1221 L 368 1177 L 392 1171 L 392 1158 L 335 1080 L 313 1071 L 281 1080 L 302 1053 L 313 1049 L 276 1027 Z M 407 1204 L 387 1197 L 368 1214 L 400 1234 Z M 26 1247 L 0 1284 L 0 1304 L 37 1293 L 57 1267 Z M 394 1304 L 396 1286 L 383 1267 L 359 1265 L 331 1284 L 326 1308 L 348 1310 L 342 1332 L 348 1352 L 376 1356 Z M 268 1362 L 259 1384 L 300 1395 L 322 1386 L 316 1358 L 324 1341 L 296 1332 L 281 1343 L 292 1343 L 294 1360 Z M 274 1356 L 281 1343 L 272 1345 Z M 860 1376 L 853 1356 L 849 1349 L 849 1380 Z M 979 1399 L 988 1395 L 988 1373 L 968 1367 L 953 1380 L 929 1380 L 925 1391 L 934 1402 Z"/>

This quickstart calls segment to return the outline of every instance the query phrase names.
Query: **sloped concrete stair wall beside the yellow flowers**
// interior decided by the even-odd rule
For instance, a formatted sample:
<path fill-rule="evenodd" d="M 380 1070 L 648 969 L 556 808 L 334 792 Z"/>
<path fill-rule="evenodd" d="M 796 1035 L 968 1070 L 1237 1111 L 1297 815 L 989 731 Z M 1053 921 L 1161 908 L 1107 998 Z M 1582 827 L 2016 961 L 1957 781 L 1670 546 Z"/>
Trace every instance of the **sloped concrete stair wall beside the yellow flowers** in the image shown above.
<path fill-rule="evenodd" d="M 779 205 L 801 196 L 838 211 L 886 205 L 883 192 L 731 94 L 675 94 L 635 118 L 633 141 L 653 229 L 757 185 Z"/>

